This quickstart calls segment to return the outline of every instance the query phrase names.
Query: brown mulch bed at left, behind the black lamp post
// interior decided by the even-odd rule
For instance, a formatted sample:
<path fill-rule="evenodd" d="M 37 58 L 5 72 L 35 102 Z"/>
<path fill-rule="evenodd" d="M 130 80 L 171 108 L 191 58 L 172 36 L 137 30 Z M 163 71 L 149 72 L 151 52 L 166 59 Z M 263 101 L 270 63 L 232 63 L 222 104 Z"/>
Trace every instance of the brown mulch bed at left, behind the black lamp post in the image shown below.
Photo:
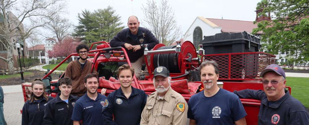
<path fill-rule="evenodd" d="M 33 72 L 32 75 L 24 76 L 24 80 L 27 83 L 31 83 L 34 79 L 42 79 L 45 76 L 45 71 L 27 70 L 26 72 Z M 52 76 L 53 79 L 59 78 L 59 74 L 56 74 L 56 73 L 52 73 L 51 76 Z M 20 84 L 21 84 L 21 77 L 20 76 L 0 80 L 0 86 L 20 85 Z"/>

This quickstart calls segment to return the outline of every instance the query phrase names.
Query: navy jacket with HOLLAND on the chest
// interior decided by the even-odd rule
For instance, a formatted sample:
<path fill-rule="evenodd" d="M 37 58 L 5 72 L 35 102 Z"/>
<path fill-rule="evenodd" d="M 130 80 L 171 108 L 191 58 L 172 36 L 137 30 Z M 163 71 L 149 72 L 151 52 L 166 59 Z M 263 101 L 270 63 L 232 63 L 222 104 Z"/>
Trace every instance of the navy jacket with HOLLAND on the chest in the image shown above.
<path fill-rule="evenodd" d="M 44 125 L 73 125 L 71 117 L 78 97 L 70 95 L 66 103 L 60 99 L 60 94 L 58 93 L 56 98 L 47 103 L 44 111 Z"/>

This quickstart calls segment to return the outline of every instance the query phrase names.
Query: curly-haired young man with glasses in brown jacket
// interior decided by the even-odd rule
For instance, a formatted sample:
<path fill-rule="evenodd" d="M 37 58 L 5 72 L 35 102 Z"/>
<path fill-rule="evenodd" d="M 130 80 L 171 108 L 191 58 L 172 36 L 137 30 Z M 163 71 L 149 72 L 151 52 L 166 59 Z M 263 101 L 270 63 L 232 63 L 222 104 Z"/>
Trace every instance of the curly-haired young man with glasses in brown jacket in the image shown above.
<path fill-rule="evenodd" d="M 79 44 L 76 47 L 76 52 L 79 58 L 70 62 L 66 67 L 65 77 L 72 79 L 72 95 L 82 96 L 86 93 L 84 85 L 84 77 L 91 72 L 92 62 L 87 61 L 89 48 L 86 44 Z M 93 70 L 93 73 L 98 73 Z"/>

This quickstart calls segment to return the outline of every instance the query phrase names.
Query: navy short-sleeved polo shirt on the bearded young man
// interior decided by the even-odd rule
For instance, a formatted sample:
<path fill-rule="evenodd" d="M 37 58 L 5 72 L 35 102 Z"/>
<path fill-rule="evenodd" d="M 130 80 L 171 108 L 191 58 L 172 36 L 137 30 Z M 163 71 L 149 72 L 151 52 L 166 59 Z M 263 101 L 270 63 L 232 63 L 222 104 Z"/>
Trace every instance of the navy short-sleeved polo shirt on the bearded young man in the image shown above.
<path fill-rule="evenodd" d="M 102 108 L 109 105 L 105 95 L 98 93 L 95 100 L 90 99 L 87 95 L 80 97 L 73 109 L 72 120 L 83 120 L 83 125 L 102 125 Z"/>

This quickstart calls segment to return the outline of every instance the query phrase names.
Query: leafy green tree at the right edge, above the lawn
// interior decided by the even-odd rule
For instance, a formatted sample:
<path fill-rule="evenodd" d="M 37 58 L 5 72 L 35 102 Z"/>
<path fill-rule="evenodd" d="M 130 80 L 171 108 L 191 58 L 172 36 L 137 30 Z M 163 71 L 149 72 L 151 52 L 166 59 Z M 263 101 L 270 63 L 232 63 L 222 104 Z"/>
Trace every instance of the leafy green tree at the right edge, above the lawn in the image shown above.
<path fill-rule="evenodd" d="M 259 16 L 271 13 L 271 21 L 258 22 L 253 33 L 262 31 L 261 42 L 267 52 L 289 52 L 292 62 L 309 61 L 309 1 L 262 0 Z M 255 22 L 256 23 L 256 22 Z"/>

